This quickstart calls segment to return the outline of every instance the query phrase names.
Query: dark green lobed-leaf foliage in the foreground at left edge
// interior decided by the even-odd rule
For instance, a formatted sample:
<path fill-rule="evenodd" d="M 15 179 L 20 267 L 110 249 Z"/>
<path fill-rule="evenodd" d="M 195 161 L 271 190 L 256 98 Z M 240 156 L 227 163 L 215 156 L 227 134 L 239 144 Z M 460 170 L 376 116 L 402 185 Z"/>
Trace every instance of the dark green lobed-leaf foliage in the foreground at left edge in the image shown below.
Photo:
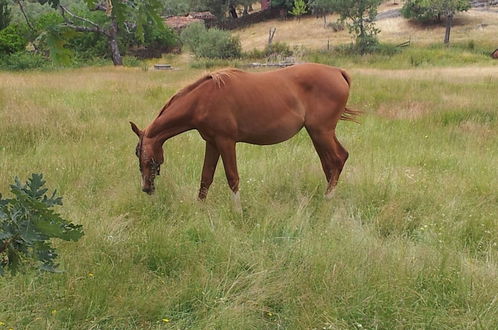
<path fill-rule="evenodd" d="M 12 199 L 0 195 L 0 275 L 5 269 L 13 274 L 31 264 L 46 271 L 56 271 L 57 253 L 50 239 L 77 241 L 83 236 L 81 225 L 61 218 L 53 207 L 62 205 L 57 192 L 47 195 L 41 174 L 32 174 L 25 184 L 16 178 L 10 186 Z"/>

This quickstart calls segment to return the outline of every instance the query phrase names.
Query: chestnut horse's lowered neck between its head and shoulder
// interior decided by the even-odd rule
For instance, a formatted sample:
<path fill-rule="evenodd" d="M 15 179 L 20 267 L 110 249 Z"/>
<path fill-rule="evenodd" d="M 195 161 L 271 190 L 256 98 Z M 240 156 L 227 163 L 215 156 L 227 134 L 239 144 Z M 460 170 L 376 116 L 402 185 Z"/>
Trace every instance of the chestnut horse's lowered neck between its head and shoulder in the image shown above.
<path fill-rule="evenodd" d="M 147 128 L 146 136 L 162 145 L 169 138 L 191 130 L 193 128 L 191 116 L 189 111 L 184 109 L 170 107 L 163 111 Z"/>

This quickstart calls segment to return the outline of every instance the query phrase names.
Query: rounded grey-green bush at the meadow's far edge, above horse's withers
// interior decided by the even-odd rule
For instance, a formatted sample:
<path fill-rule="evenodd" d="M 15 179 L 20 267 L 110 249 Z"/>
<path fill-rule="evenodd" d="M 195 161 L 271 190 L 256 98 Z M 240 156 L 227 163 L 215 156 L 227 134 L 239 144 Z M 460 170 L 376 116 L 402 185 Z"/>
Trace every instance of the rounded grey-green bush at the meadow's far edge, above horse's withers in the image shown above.
<path fill-rule="evenodd" d="M 208 30 L 201 23 L 191 24 L 185 28 L 181 39 L 198 57 L 236 58 L 240 57 L 242 52 L 238 38 L 227 31 L 215 28 Z"/>

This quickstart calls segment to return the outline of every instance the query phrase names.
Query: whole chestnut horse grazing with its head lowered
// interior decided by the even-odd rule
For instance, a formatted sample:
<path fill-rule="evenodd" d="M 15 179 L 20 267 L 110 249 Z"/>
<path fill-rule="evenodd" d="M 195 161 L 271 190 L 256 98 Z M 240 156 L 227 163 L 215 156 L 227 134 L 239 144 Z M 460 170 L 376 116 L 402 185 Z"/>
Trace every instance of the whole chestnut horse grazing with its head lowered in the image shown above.
<path fill-rule="evenodd" d="M 206 141 L 199 199 L 206 198 L 221 156 L 240 211 L 235 144 L 280 143 L 305 127 L 327 178 L 325 195 L 331 197 L 348 158 L 335 136 L 337 122 L 355 121 L 359 114 L 346 108 L 349 86 L 345 71 L 321 64 L 259 73 L 225 69 L 205 75 L 177 92 L 145 130 L 130 122 L 139 138 L 136 155 L 142 190 L 154 192 L 154 179 L 164 161 L 163 143 L 196 129 Z"/>

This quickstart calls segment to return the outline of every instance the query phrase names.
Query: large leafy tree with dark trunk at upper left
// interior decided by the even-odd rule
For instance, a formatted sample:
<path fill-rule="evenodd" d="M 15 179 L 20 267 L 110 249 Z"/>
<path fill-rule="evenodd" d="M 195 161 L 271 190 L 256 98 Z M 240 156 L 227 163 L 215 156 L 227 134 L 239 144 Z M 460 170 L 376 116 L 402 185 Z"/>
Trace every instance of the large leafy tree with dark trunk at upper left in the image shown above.
<path fill-rule="evenodd" d="M 169 33 L 169 41 L 173 42 L 172 32 L 168 32 L 160 13 L 160 0 L 35 0 L 42 7 L 51 8 L 53 18 L 51 24 L 35 26 L 32 18 L 26 14 L 24 0 L 16 0 L 32 34 L 45 36 L 44 40 L 55 60 L 67 58 L 67 46 L 76 31 L 100 35 L 107 44 L 107 51 L 115 65 L 122 65 L 122 54 L 127 46 L 154 42 L 152 39 L 165 40 Z M 43 16 L 42 16 L 43 17 Z M 157 31 L 157 32 L 156 32 Z"/>

